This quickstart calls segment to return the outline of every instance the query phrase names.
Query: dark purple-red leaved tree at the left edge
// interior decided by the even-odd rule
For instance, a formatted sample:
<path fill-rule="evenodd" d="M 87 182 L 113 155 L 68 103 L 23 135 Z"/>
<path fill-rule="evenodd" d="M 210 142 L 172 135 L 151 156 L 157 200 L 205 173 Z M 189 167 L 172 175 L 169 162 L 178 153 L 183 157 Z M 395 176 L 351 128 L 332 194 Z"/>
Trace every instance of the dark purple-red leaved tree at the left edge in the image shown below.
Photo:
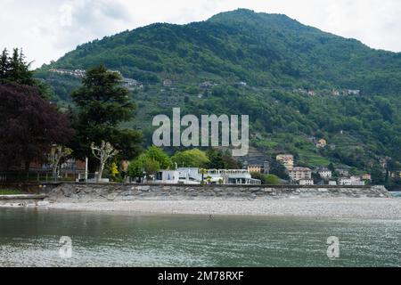
<path fill-rule="evenodd" d="M 37 87 L 0 85 L 0 168 L 43 162 L 52 144 L 65 144 L 74 135 L 68 116 L 45 101 Z"/>

